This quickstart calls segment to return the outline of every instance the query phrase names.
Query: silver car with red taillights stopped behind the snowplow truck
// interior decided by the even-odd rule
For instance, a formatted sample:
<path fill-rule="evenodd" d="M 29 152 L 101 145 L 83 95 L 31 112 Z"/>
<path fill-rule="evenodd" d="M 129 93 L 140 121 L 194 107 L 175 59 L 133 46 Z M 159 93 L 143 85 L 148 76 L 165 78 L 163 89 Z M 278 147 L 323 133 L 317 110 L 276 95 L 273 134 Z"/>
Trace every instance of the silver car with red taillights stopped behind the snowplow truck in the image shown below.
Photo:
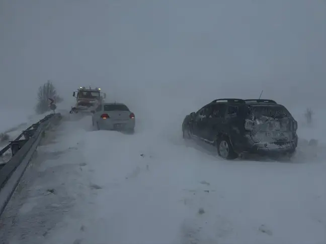
<path fill-rule="evenodd" d="M 135 130 L 135 114 L 124 103 L 106 102 L 91 111 L 93 128 L 97 130 L 125 131 Z"/>

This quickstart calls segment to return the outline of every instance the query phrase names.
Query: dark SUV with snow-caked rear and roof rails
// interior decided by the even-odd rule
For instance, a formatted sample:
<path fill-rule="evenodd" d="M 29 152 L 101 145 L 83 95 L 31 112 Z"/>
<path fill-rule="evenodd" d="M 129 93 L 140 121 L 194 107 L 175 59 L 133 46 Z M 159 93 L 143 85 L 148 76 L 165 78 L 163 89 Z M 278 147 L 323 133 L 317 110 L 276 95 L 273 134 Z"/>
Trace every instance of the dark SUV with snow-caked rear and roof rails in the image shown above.
<path fill-rule="evenodd" d="M 224 159 L 242 153 L 291 156 L 297 147 L 297 121 L 285 106 L 269 99 L 216 99 L 182 124 L 185 139 L 215 145 Z"/>

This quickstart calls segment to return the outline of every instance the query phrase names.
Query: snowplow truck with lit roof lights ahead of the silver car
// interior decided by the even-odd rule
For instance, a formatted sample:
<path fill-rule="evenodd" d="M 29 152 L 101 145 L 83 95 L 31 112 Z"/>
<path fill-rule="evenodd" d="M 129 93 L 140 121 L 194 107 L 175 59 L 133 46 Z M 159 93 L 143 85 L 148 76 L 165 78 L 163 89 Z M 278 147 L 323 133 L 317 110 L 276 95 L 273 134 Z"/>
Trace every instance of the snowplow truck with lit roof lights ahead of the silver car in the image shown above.
<path fill-rule="evenodd" d="M 71 107 L 70 113 L 91 113 L 106 98 L 106 93 L 101 92 L 101 88 L 87 89 L 85 86 L 79 87 L 72 95 L 76 98 L 76 104 Z"/>

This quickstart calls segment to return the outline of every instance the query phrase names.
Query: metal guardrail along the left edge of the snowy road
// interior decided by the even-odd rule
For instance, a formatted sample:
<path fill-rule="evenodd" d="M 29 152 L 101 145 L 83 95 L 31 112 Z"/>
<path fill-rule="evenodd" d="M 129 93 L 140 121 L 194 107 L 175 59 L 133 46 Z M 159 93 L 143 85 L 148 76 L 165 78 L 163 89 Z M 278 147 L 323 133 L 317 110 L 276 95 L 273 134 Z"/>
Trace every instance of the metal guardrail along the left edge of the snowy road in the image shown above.
<path fill-rule="evenodd" d="M 0 216 L 10 201 L 20 179 L 37 149 L 45 131 L 62 118 L 51 113 L 24 130 L 14 141 L 0 151 L 0 157 L 11 150 L 11 159 L 0 169 Z M 24 139 L 22 139 L 24 137 Z"/>

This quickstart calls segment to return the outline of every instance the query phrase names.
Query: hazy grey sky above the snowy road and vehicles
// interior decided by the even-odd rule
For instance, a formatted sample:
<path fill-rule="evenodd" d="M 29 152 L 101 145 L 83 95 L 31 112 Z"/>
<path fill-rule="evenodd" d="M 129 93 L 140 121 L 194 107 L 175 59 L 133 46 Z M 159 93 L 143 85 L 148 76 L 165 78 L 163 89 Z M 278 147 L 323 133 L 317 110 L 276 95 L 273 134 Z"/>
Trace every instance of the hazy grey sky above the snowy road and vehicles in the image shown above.
<path fill-rule="evenodd" d="M 1 103 L 15 94 L 14 105 L 34 105 L 48 79 L 71 102 L 98 85 L 136 103 L 262 89 L 285 104 L 325 103 L 326 2 L 1 0 Z"/>

